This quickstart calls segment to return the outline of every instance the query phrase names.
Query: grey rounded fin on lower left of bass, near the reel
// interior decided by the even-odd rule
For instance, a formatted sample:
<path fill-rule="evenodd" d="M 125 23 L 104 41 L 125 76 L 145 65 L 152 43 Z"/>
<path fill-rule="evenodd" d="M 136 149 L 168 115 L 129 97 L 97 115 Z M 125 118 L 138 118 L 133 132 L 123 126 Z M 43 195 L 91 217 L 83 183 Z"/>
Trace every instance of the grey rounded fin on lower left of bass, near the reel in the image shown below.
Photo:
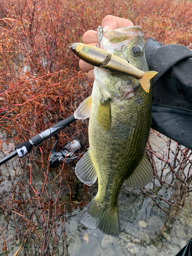
<path fill-rule="evenodd" d="M 75 174 L 77 178 L 86 185 L 93 185 L 97 180 L 95 167 L 90 158 L 89 150 L 78 161 L 75 167 Z"/>

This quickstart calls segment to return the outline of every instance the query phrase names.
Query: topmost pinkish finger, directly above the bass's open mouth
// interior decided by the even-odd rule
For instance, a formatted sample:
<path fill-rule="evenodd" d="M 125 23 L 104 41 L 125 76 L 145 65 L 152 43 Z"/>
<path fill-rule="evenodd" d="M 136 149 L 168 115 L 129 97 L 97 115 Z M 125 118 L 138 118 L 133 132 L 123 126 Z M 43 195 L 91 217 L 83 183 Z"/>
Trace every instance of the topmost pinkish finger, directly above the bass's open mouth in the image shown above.
<path fill-rule="evenodd" d="M 134 26 L 131 20 L 125 18 L 119 18 L 113 15 L 106 15 L 102 22 L 101 27 L 105 30 L 109 31 L 111 29 L 119 29 L 125 27 L 132 27 Z"/>

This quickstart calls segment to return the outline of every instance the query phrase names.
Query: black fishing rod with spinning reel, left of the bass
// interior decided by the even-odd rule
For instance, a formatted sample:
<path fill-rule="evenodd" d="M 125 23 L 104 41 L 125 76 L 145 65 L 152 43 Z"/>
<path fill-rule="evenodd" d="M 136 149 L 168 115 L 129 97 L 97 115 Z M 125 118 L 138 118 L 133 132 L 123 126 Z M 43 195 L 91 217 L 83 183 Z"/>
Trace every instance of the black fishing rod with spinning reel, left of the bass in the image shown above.
<path fill-rule="evenodd" d="M 50 167 L 54 168 L 59 165 L 59 163 L 65 160 L 66 163 L 74 160 L 77 158 L 76 154 L 81 150 L 82 146 L 78 140 L 72 140 L 67 142 L 62 150 L 59 152 L 55 152 L 57 143 L 58 143 L 58 132 L 68 126 L 70 123 L 74 122 L 76 119 L 74 115 L 55 123 L 51 127 L 49 127 L 44 132 L 41 132 L 35 136 L 33 136 L 28 141 L 24 141 L 19 145 L 15 146 L 15 151 L 11 152 L 9 155 L 5 156 L 4 158 L 0 159 L 0 166 L 10 159 L 14 158 L 15 156 L 23 157 L 29 154 L 34 146 L 39 145 L 44 140 L 47 140 L 51 136 L 55 136 L 56 140 L 53 145 L 51 156 L 50 156 Z"/>

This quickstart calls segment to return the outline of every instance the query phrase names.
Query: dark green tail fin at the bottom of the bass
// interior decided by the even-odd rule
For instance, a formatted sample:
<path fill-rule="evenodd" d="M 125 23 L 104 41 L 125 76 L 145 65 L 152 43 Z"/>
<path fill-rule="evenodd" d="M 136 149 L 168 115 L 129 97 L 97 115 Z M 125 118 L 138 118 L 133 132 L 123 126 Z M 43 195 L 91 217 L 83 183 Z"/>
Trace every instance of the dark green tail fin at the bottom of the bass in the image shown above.
<path fill-rule="evenodd" d="M 103 210 L 97 196 L 94 197 L 86 208 L 81 223 L 90 228 L 99 228 L 103 233 L 111 236 L 119 236 L 119 212 L 118 205 Z"/>

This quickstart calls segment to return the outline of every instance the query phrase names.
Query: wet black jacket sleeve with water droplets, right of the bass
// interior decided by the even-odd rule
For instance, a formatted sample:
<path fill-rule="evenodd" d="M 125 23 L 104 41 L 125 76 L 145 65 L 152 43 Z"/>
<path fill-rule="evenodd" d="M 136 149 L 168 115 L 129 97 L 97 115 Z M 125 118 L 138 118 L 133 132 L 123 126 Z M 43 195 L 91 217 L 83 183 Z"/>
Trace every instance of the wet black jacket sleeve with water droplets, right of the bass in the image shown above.
<path fill-rule="evenodd" d="M 192 51 L 148 38 L 145 55 L 152 80 L 152 128 L 192 150 Z"/>

